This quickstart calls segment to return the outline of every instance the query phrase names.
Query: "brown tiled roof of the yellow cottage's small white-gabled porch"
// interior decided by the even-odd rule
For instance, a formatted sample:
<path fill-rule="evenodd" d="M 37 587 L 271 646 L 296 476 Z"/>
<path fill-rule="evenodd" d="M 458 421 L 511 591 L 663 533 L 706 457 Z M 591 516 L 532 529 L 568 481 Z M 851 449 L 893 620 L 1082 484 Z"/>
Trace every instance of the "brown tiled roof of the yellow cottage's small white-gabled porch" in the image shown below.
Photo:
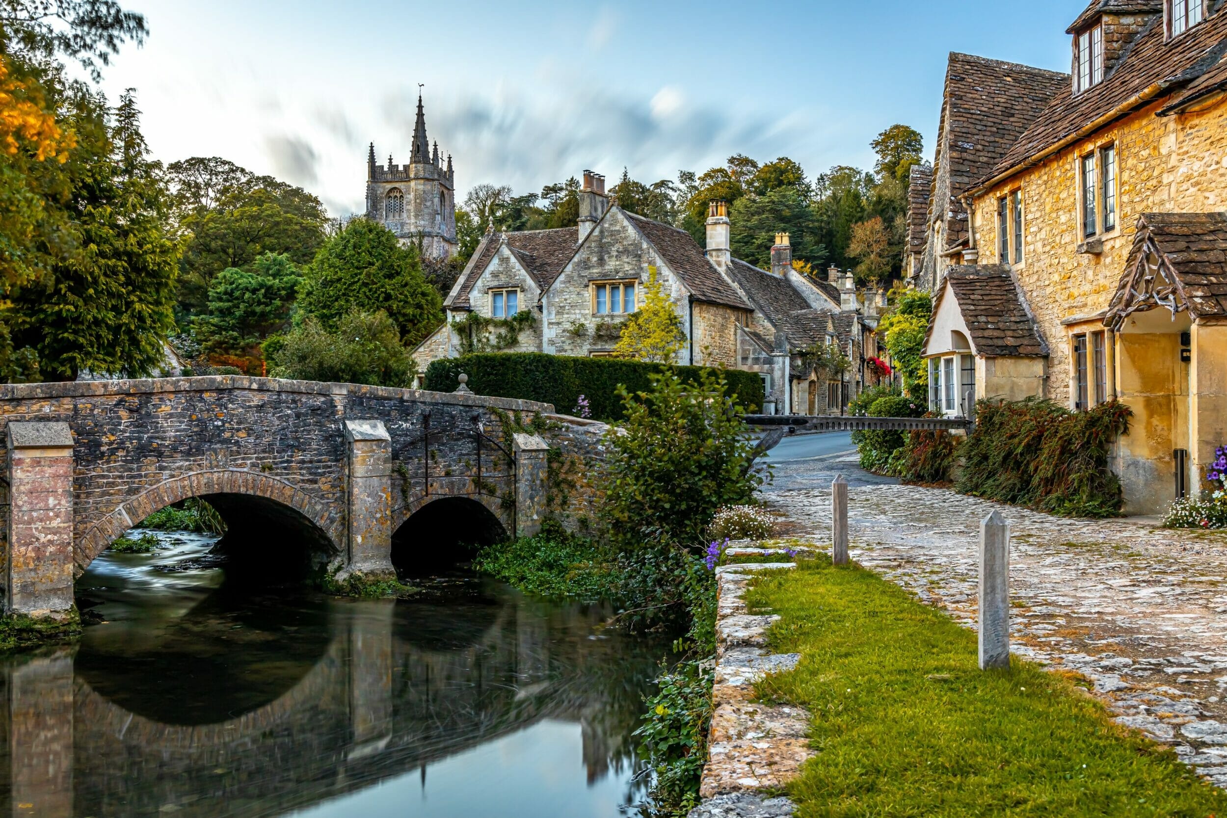
<path fill-rule="evenodd" d="M 977 353 L 991 358 L 1040 358 L 1048 354 L 1048 347 L 1027 314 L 1007 265 L 951 267 L 946 281 L 950 282 Z M 942 287 L 937 304 L 934 305 L 934 316 L 945 297 L 946 288 Z M 931 335 L 933 319 L 925 332 L 926 348 Z"/>

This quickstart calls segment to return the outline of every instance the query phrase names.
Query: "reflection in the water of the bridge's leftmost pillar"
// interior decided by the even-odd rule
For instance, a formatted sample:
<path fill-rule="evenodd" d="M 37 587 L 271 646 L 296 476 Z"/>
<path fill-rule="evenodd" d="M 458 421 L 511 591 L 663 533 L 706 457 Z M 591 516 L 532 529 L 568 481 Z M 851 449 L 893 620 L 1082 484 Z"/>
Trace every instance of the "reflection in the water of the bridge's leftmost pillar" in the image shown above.
<path fill-rule="evenodd" d="M 71 818 L 72 655 L 38 656 L 6 676 L 10 814 Z"/>

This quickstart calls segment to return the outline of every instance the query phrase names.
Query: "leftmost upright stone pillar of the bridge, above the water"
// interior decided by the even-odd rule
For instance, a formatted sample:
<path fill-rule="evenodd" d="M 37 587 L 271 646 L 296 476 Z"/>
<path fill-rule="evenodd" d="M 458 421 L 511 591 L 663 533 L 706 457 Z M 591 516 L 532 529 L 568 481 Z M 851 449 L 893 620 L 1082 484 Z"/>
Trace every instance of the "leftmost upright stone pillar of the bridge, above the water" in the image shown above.
<path fill-rule="evenodd" d="M 9 424 L 7 613 L 61 618 L 72 608 L 72 430 Z"/>

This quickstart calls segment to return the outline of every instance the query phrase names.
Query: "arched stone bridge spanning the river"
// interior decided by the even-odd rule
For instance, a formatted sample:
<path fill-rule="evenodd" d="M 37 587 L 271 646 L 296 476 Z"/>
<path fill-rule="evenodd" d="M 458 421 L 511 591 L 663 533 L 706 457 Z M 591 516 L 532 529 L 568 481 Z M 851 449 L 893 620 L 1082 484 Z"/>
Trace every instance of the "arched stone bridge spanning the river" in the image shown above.
<path fill-rule="evenodd" d="M 602 428 L 562 418 L 530 433 L 551 412 L 232 375 L 0 386 L 4 607 L 67 611 L 99 553 L 188 498 L 218 510 L 236 558 L 342 574 L 387 574 L 394 543 L 413 559 L 417 546 L 530 535 L 551 448 L 590 456 Z"/>

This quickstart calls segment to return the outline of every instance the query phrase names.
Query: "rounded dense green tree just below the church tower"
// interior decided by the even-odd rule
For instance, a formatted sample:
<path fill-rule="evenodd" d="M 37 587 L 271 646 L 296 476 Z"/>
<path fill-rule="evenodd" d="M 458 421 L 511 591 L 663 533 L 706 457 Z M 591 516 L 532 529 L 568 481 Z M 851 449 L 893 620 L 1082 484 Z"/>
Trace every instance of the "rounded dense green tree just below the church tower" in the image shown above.
<path fill-rule="evenodd" d="M 422 276 L 416 248 L 369 220 L 331 237 L 303 276 L 298 305 L 325 330 L 353 310 L 384 310 L 401 340 L 416 345 L 443 323 L 443 299 Z"/>

